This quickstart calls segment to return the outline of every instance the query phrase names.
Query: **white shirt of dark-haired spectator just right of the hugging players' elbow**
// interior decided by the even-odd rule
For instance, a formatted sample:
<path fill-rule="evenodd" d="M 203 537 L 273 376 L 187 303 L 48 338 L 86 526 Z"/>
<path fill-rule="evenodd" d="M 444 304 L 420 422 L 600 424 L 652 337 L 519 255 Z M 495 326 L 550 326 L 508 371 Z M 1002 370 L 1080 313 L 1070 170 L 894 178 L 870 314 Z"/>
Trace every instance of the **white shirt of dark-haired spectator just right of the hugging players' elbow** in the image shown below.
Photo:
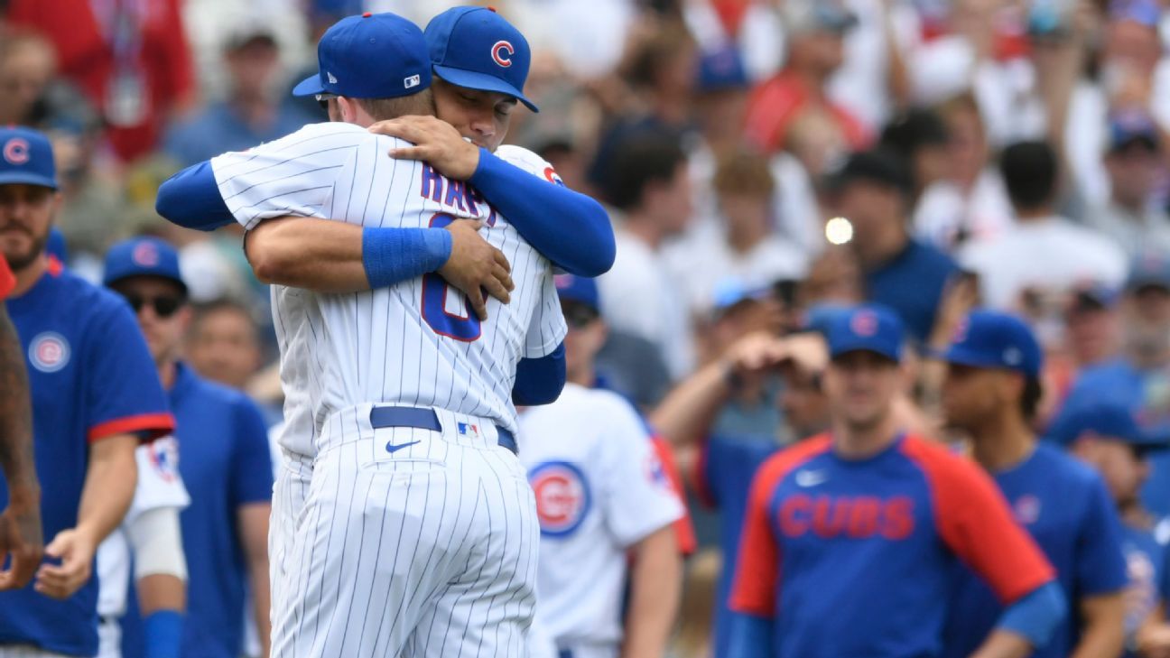
<path fill-rule="evenodd" d="M 615 239 L 613 268 L 598 279 L 601 315 L 611 327 L 654 343 L 679 379 L 695 361 L 682 288 L 660 252 L 621 228 Z"/>

